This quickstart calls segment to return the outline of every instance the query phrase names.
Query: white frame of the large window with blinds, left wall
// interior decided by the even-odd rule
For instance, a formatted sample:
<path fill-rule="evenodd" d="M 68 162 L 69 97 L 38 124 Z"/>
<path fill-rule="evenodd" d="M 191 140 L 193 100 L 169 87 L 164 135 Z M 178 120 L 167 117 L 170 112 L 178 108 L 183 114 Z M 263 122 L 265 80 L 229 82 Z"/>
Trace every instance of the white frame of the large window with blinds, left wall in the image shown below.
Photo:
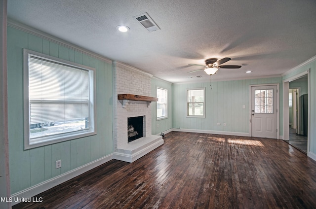
<path fill-rule="evenodd" d="M 71 139 L 78 139 L 82 137 L 96 135 L 96 76 L 95 69 L 87 66 L 79 65 L 70 61 L 62 60 L 56 57 L 45 55 L 39 52 L 24 49 L 23 51 L 23 108 L 24 108 L 24 149 L 31 149 L 48 144 L 62 142 Z M 42 137 L 36 140 L 30 140 L 30 102 L 29 102 L 29 57 L 38 57 L 50 62 L 59 63 L 69 67 L 88 70 L 89 76 L 89 128 L 82 129 L 82 131 L 56 134 L 48 137 Z"/>

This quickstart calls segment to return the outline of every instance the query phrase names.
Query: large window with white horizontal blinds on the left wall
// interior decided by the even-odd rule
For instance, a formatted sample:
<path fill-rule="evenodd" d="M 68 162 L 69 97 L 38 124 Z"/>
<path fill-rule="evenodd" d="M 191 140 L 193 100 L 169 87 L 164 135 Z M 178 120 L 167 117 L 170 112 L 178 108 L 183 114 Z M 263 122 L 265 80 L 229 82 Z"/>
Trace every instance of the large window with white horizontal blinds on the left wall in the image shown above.
<path fill-rule="evenodd" d="M 95 134 L 95 70 L 24 50 L 25 148 Z"/>

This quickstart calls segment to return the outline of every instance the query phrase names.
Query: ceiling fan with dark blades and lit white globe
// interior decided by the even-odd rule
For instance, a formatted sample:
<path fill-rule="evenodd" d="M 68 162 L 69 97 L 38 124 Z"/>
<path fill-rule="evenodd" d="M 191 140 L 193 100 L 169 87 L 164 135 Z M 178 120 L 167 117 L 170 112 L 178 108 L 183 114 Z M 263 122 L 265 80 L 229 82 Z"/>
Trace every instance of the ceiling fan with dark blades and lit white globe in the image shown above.
<path fill-rule="evenodd" d="M 203 65 L 197 65 L 197 64 L 189 64 L 192 66 L 201 66 L 203 67 L 202 69 L 198 69 L 198 70 L 193 70 L 191 72 L 188 73 L 192 73 L 192 72 L 197 72 L 199 70 L 204 70 L 207 74 L 209 75 L 213 75 L 216 73 L 216 71 L 220 68 L 227 68 L 227 69 L 237 69 L 237 68 L 241 68 L 241 66 L 234 66 L 234 65 L 222 65 L 228 61 L 230 61 L 231 58 L 223 58 L 221 60 L 217 60 L 216 58 L 210 58 L 210 59 L 206 59 L 205 62 L 205 66 Z"/>

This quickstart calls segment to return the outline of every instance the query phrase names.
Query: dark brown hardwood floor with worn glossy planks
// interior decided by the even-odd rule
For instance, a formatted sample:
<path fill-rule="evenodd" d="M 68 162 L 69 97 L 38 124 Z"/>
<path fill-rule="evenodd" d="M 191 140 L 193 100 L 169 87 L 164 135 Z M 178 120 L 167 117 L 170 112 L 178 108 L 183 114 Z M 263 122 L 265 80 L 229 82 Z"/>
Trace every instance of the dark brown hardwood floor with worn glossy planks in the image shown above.
<path fill-rule="evenodd" d="M 316 208 L 316 162 L 283 140 L 171 132 L 13 209 Z"/>

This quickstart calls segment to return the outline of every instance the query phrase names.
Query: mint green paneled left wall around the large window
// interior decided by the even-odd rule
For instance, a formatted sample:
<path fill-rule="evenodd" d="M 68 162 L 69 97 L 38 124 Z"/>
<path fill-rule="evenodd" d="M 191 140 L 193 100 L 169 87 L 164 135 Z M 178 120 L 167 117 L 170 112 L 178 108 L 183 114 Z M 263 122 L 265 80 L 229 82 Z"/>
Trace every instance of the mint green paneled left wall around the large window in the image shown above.
<path fill-rule="evenodd" d="M 97 135 L 24 150 L 23 48 L 96 69 Z M 11 193 L 49 180 L 113 152 L 112 64 L 35 35 L 7 28 L 8 127 Z M 62 167 L 56 169 L 56 160 Z"/>

